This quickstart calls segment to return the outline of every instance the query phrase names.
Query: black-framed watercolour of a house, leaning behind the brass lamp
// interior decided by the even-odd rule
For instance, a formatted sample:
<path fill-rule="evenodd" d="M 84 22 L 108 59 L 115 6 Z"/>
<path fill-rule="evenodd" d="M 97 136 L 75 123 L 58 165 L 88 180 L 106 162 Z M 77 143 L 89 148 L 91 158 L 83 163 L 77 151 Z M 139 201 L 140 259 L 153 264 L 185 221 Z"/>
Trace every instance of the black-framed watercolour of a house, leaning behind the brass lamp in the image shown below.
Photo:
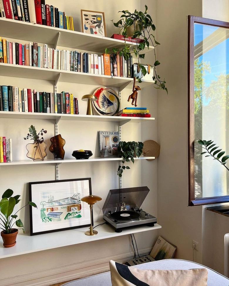
<path fill-rule="evenodd" d="M 30 235 L 90 226 L 91 178 L 29 183 Z"/>

